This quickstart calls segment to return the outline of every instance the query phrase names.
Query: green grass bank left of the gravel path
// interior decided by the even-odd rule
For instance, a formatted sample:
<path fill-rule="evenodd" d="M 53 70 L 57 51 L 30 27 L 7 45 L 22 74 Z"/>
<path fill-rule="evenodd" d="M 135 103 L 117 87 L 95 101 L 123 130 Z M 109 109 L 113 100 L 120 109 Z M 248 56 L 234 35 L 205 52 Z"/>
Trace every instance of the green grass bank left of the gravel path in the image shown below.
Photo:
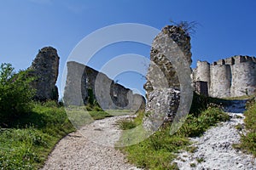
<path fill-rule="evenodd" d="M 0 169 L 38 169 L 49 152 L 75 129 L 64 108 L 33 104 L 32 112 L 0 130 Z"/>

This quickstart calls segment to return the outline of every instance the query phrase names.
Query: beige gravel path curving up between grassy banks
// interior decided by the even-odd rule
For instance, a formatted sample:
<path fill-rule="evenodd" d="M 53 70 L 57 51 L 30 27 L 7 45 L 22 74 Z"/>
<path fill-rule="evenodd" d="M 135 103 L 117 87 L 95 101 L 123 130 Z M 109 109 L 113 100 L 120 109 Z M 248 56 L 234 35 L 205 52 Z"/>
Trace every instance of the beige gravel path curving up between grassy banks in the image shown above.
<path fill-rule="evenodd" d="M 124 117 L 109 117 L 68 134 L 55 146 L 43 169 L 138 169 L 113 148 L 120 135 L 116 121 Z"/>

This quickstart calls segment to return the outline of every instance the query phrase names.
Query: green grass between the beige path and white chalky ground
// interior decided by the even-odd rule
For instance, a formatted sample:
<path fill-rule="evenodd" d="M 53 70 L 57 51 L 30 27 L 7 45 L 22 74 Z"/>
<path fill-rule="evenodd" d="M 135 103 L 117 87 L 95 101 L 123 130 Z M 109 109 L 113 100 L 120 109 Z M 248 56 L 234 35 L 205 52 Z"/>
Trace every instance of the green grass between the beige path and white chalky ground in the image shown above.
<path fill-rule="evenodd" d="M 134 121 L 120 122 L 123 129 L 129 129 L 142 122 L 143 114 L 140 113 Z M 160 130 L 151 135 L 148 139 L 139 144 L 133 144 L 124 148 L 119 148 L 126 155 L 131 163 L 145 169 L 177 169 L 177 165 L 172 163 L 179 150 L 194 150 L 189 145 L 189 137 L 199 136 L 209 127 L 221 121 L 227 121 L 230 116 L 222 112 L 219 108 L 210 107 L 200 114 L 190 114 L 183 126 L 170 135 L 170 125 L 160 127 Z M 125 133 L 122 134 L 124 136 Z M 124 138 L 124 137 L 123 137 Z M 120 138 L 122 139 L 122 137 Z"/>

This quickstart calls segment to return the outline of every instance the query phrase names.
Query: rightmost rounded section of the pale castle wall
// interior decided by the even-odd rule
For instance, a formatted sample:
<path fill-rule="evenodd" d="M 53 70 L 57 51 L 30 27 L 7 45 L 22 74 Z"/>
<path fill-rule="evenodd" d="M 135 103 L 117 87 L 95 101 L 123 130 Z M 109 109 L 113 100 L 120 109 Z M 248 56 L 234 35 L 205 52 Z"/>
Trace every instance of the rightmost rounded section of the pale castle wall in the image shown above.
<path fill-rule="evenodd" d="M 256 63 L 241 62 L 231 66 L 231 96 L 252 95 L 256 93 Z"/>

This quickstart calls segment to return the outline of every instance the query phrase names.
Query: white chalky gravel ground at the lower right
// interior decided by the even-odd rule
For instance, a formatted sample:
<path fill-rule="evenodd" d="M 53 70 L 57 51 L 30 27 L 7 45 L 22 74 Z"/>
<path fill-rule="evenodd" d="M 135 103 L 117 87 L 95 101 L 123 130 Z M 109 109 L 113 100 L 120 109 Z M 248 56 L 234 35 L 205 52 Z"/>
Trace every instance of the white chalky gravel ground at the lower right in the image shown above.
<path fill-rule="evenodd" d="M 242 114 L 229 113 L 229 122 L 219 123 L 212 127 L 200 138 L 192 138 L 194 153 L 181 152 L 174 162 L 182 169 L 256 169 L 256 159 L 236 150 L 232 144 L 240 142 L 241 131 L 236 129 L 237 124 L 243 125 Z"/>

